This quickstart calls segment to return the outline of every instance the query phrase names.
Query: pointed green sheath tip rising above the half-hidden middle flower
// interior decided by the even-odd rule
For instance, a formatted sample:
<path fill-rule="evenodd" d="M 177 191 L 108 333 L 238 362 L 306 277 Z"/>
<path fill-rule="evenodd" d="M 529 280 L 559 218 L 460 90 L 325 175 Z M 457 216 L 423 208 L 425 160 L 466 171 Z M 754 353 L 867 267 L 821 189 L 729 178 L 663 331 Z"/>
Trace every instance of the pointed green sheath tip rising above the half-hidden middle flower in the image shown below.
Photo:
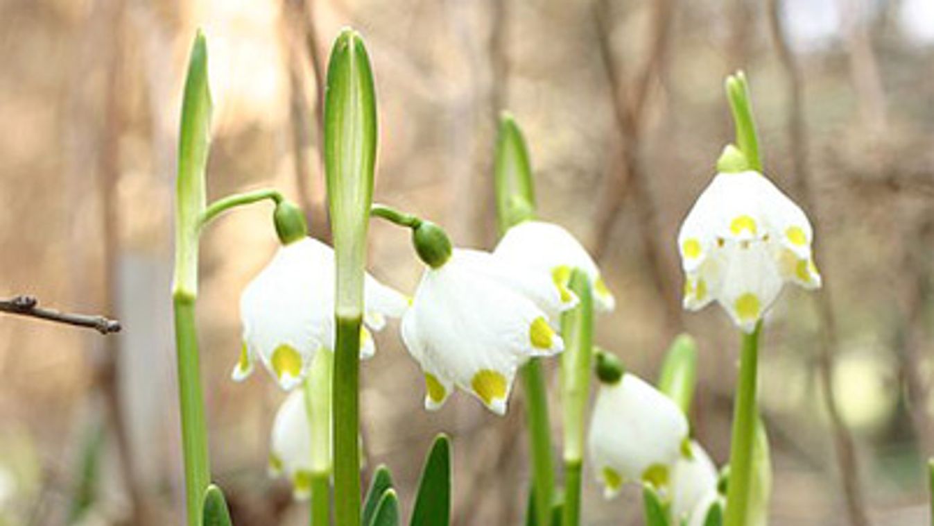
<path fill-rule="evenodd" d="M 508 112 L 500 117 L 494 162 L 496 209 L 500 233 L 535 215 L 535 185 L 529 149 L 522 130 Z"/>

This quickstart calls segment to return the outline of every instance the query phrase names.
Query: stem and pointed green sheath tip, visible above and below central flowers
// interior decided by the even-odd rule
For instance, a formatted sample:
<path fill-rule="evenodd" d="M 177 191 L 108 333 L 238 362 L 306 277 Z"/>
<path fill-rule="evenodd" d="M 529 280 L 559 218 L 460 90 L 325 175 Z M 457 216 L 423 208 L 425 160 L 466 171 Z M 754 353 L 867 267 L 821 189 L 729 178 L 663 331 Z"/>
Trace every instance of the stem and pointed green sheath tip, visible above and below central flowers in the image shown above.
<path fill-rule="evenodd" d="M 525 139 L 512 116 L 500 119 L 494 165 L 496 211 L 500 234 L 535 217 L 535 187 Z M 551 426 L 548 422 L 548 397 L 542 364 L 533 358 L 519 369 L 526 395 L 526 419 L 531 451 L 532 494 L 536 524 L 551 523 L 554 502 L 555 472 L 551 458 Z"/>

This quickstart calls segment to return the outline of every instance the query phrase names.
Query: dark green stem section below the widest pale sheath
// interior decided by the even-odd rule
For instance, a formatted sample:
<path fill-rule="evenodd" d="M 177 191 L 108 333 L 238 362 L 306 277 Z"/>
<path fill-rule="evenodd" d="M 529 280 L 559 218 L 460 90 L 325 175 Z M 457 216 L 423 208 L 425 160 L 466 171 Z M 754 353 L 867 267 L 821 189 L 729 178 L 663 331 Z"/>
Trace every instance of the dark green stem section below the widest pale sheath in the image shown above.
<path fill-rule="evenodd" d="M 360 524 L 360 401 L 361 318 L 337 317 L 334 345 L 333 430 L 334 514 L 338 526 Z"/>

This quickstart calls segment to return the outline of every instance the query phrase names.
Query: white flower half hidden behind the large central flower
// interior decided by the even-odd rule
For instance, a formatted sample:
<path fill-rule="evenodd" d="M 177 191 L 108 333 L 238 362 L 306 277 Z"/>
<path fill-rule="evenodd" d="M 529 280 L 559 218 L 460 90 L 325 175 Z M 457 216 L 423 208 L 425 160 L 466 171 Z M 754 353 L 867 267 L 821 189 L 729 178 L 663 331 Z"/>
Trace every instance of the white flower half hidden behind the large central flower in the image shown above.
<path fill-rule="evenodd" d="M 608 312 L 616 306 L 613 293 L 606 288 L 597 263 L 587 249 L 557 224 L 528 220 L 510 228 L 493 253 L 503 259 L 545 272 L 558 287 L 562 298 L 570 299 L 568 280 L 574 268 L 581 269 L 593 284 L 595 305 Z"/>

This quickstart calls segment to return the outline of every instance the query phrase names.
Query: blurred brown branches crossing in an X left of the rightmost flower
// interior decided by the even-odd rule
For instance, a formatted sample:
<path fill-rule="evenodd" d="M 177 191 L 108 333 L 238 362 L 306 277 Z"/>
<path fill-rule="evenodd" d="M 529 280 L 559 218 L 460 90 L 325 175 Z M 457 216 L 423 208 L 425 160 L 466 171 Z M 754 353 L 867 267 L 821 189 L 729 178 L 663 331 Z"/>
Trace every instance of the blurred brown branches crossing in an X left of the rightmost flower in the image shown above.
<path fill-rule="evenodd" d="M 661 76 L 665 68 L 672 21 L 674 0 L 658 0 L 651 3 L 651 28 L 648 32 L 649 50 L 641 70 L 627 85 L 618 58 L 613 52 L 612 31 L 614 16 L 610 0 L 595 0 L 593 17 L 597 26 L 597 39 L 601 63 L 606 72 L 612 98 L 616 132 L 619 135 L 619 160 L 614 169 L 605 174 L 596 211 L 596 235 L 593 253 L 603 260 L 609 252 L 610 238 L 616 222 L 629 200 L 636 211 L 636 229 L 641 240 L 646 271 L 650 274 L 668 322 L 668 332 L 673 333 L 681 320 L 680 294 L 672 280 L 664 254 L 668 251 L 667 239 L 659 235 L 655 200 L 645 180 L 640 160 L 644 140 L 644 119 L 650 104 L 649 94 L 653 80 Z"/>

